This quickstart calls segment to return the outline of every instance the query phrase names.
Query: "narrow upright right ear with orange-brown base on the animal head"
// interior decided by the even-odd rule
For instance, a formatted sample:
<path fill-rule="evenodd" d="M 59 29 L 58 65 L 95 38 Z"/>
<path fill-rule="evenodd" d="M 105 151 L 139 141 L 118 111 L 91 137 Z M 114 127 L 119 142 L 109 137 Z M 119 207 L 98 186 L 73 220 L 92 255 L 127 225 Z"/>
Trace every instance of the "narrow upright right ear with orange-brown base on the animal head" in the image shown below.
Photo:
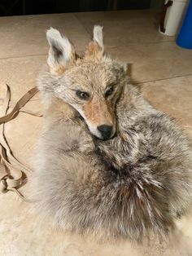
<path fill-rule="evenodd" d="M 101 60 L 104 54 L 103 27 L 94 26 L 94 37 L 85 51 L 85 59 Z"/>

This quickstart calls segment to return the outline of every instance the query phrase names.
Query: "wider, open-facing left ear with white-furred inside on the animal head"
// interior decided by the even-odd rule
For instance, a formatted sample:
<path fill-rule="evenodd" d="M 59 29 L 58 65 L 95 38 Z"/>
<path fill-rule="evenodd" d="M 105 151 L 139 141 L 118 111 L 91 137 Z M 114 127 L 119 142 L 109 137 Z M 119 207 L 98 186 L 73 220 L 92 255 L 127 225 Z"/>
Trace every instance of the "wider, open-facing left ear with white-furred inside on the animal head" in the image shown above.
<path fill-rule="evenodd" d="M 50 45 L 47 64 L 50 72 L 55 75 L 64 73 L 68 64 L 74 63 L 76 53 L 74 46 L 68 38 L 62 36 L 57 29 L 50 28 L 46 31 L 46 38 Z"/>

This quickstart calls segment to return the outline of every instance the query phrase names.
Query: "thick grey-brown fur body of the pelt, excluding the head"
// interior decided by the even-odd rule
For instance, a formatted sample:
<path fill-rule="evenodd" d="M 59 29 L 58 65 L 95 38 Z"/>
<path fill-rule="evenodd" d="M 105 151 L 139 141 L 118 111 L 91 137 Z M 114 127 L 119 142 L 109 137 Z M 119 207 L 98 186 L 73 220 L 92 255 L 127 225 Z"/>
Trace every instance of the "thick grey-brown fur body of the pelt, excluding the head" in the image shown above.
<path fill-rule="evenodd" d="M 189 141 L 172 118 L 124 83 L 116 103 L 116 136 L 100 140 L 59 99 L 55 75 L 47 72 L 39 80 L 45 115 L 33 198 L 42 216 L 64 231 L 139 241 L 151 231 L 168 232 L 189 208 Z"/>

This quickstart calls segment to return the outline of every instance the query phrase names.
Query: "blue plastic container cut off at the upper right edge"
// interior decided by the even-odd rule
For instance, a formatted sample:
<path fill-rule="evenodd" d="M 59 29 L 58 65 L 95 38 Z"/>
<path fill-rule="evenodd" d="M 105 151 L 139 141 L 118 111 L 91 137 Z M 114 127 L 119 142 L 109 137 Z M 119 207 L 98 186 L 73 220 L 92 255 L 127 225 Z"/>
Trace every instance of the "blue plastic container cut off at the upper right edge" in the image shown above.
<path fill-rule="evenodd" d="M 192 49 L 192 0 L 190 0 L 176 43 L 183 48 Z"/>

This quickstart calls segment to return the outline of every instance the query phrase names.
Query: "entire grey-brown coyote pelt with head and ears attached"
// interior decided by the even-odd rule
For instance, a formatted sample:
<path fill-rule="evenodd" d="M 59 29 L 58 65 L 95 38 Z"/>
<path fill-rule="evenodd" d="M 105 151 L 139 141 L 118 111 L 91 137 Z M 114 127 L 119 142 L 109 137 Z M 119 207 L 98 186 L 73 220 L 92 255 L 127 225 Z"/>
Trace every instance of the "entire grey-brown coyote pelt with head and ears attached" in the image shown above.
<path fill-rule="evenodd" d="M 168 232 L 191 203 L 189 141 L 129 84 L 124 64 L 105 55 L 100 27 L 81 59 L 57 30 L 47 38 L 48 68 L 38 81 L 44 129 L 35 155 L 37 209 L 64 231 L 137 241 Z M 75 94 L 75 83 L 89 94 Z M 107 84 L 114 95 L 104 99 Z M 110 139 L 94 129 L 102 115 L 115 127 Z"/>

